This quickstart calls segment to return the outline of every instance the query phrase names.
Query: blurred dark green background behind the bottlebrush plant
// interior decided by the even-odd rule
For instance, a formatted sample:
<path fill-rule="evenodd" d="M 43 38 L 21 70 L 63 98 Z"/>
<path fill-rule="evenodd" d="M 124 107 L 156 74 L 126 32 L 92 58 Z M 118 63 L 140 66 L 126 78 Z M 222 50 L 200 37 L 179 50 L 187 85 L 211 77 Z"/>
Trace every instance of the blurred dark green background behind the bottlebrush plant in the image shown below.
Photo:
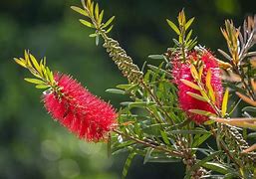
<path fill-rule="evenodd" d="M 24 49 L 37 58 L 47 56 L 55 71 L 71 74 L 95 94 L 119 108 L 124 96 L 106 89 L 126 83 L 91 31 L 70 9 L 78 0 L 0 1 L 0 178 L 56 179 L 120 178 L 127 154 L 107 157 L 106 144 L 77 139 L 48 115 L 42 91 L 23 81 L 30 74 L 13 57 Z M 112 36 L 141 67 L 150 54 L 161 54 L 173 44 L 174 33 L 165 19 L 175 20 L 185 8 L 195 16 L 198 41 L 212 51 L 225 49 L 219 27 L 224 19 L 240 25 L 255 13 L 255 0 L 109 0 L 100 1 L 106 17 L 116 15 Z M 219 56 L 216 53 L 217 56 Z M 149 62 L 150 63 L 150 62 Z M 182 164 L 142 164 L 136 157 L 128 178 L 182 178 Z"/>

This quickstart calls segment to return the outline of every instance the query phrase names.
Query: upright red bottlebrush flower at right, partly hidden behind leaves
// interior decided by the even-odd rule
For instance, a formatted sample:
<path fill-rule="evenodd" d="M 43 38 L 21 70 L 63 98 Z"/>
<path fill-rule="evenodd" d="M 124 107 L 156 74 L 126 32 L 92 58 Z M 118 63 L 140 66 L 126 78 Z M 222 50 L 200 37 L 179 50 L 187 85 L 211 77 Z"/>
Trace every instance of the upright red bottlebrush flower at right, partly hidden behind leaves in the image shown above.
<path fill-rule="evenodd" d="M 203 51 L 202 54 L 197 54 L 196 52 L 191 53 L 188 56 L 188 59 L 190 59 L 190 62 L 182 63 L 178 58 L 174 58 L 172 61 L 173 69 L 172 69 L 172 75 L 174 78 L 174 83 L 177 85 L 178 88 L 178 100 L 179 100 L 179 106 L 182 108 L 188 115 L 188 117 L 195 121 L 196 123 L 202 123 L 206 120 L 208 120 L 207 116 L 194 114 L 189 112 L 189 109 L 201 109 L 206 110 L 212 113 L 215 113 L 212 106 L 204 101 L 198 100 L 191 95 L 187 94 L 188 91 L 200 94 L 200 91 L 197 89 L 192 89 L 188 87 L 187 85 L 183 84 L 180 80 L 186 80 L 191 83 L 194 83 L 194 79 L 190 72 L 190 63 L 201 61 L 203 62 L 203 74 L 202 74 L 202 83 L 205 84 L 205 78 L 208 70 L 211 71 L 211 86 L 213 90 L 215 91 L 215 98 L 216 98 L 216 106 L 221 106 L 222 101 L 222 95 L 223 95 L 223 88 L 221 83 L 221 77 L 220 77 L 220 69 L 218 67 L 218 63 L 216 59 L 211 55 L 208 51 Z"/>

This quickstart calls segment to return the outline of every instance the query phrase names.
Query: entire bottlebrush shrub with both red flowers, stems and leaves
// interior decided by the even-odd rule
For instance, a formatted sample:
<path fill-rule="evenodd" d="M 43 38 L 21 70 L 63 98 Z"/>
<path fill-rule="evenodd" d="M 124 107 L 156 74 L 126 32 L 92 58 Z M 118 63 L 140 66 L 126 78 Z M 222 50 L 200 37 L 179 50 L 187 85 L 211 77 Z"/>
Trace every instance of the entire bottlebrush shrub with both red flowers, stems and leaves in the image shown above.
<path fill-rule="evenodd" d="M 117 116 L 110 104 L 77 81 L 54 76 L 45 60 L 38 63 L 25 53 L 24 59 L 15 61 L 36 77 L 26 81 L 47 89 L 43 99 L 54 118 L 88 141 L 105 139 L 112 131 L 109 153 L 129 153 L 123 178 L 136 155 L 144 158 L 143 163 L 182 162 L 186 179 L 255 178 L 256 145 L 250 146 L 248 138 L 256 136 L 256 52 L 251 50 L 256 44 L 256 17 L 245 20 L 243 28 L 225 21 L 221 32 L 229 53 L 218 50 L 227 59 L 223 62 L 196 46 L 189 29 L 194 18 L 187 19 L 181 11 L 177 25 L 167 20 L 177 35 L 174 46 L 149 56 L 158 66 L 148 62 L 140 71 L 109 36 L 115 17 L 105 21 L 104 10 L 91 0 L 82 0 L 82 8 L 72 9 L 83 16 L 83 25 L 94 30 L 90 37 L 97 45 L 102 38 L 103 47 L 128 78 L 128 83 L 107 91 L 128 95 L 129 101 L 121 103 Z M 246 106 L 234 116 L 241 100 Z"/>

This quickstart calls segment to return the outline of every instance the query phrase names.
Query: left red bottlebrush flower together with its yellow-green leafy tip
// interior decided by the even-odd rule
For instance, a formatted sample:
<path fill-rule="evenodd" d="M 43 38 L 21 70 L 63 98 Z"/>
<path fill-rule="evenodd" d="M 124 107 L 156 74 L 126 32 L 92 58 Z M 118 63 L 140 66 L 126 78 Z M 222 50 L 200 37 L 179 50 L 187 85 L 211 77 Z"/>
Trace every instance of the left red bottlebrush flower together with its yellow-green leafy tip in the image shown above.
<path fill-rule="evenodd" d="M 79 138 L 98 142 L 106 140 L 115 128 L 117 113 L 114 107 L 87 89 L 70 76 L 50 71 L 46 60 L 37 62 L 25 51 L 25 58 L 15 61 L 28 69 L 38 79 L 25 79 L 36 84 L 37 89 L 46 89 L 43 101 L 54 119 L 75 133 Z"/>

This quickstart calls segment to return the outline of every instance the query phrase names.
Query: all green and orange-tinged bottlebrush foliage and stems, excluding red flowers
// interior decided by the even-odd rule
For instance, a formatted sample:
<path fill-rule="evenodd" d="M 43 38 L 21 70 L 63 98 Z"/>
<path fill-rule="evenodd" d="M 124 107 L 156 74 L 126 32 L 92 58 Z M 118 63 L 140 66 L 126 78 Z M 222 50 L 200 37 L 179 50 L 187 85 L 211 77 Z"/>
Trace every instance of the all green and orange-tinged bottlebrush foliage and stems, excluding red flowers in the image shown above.
<path fill-rule="evenodd" d="M 175 45 L 169 48 L 166 54 L 150 56 L 158 59 L 159 64 L 158 66 L 147 65 L 142 68 L 146 69 L 143 73 L 133 64 L 119 43 L 107 36 L 112 30 L 112 26 L 109 29 L 108 27 L 114 18 L 103 23 L 104 11 L 99 9 L 98 4 L 95 5 L 91 0 L 87 0 L 82 1 L 82 5 L 84 9 L 78 7 L 72 7 L 72 9 L 89 18 L 90 21 L 80 21 L 96 30 L 91 37 L 96 37 L 97 45 L 100 36 L 104 39 L 103 46 L 123 75 L 128 78 L 128 84 L 119 85 L 116 89 L 108 89 L 110 92 L 128 95 L 130 98 L 129 101 L 122 102 L 124 107 L 119 112 L 119 126 L 113 129 L 114 133 L 108 141 L 111 146 L 109 149 L 113 154 L 129 152 L 123 177 L 125 178 L 128 174 L 128 166 L 132 158 L 140 155 L 143 156 L 144 163 L 182 161 L 186 168 L 185 178 L 252 178 L 255 170 L 255 153 L 252 151 L 255 145 L 249 147 L 245 141 L 247 133 L 241 134 L 237 127 L 255 129 L 255 119 L 248 112 L 255 112 L 255 67 L 252 63 L 255 52 L 249 52 L 249 50 L 256 41 L 256 18 L 248 18 L 245 21 L 243 35 L 231 21 L 226 21 L 226 29 L 222 29 L 230 56 L 219 50 L 229 60 L 228 63 L 218 61 L 223 71 L 229 74 L 224 79 L 226 90 L 221 107 L 215 102 L 216 91 L 211 85 L 211 71 L 206 72 L 204 81 L 201 78 L 203 64 L 200 64 L 200 61 L 198 64 L 190 64 L 193 82 L 186 80 L 181 82 L 189 88 L 198 90 L 199 93 L 188 92 L 187 94 L 207 102 L 215 112 L 201 110 L 196 106 L 190 109 L 189 112 L 209 117 L 204 124 L 197 125 L 179 107 L 177 89 L 171 83 L 170 63 L 174 56 L 180 57 L 180 61 L 187 63 L 191 50 L 205 51 L 200 46 L 195 47 L 196 39 L 191 39 L 192 30 L 186 33 L 194 19 L 186 21 L 184 11 L 181 11 L 177 18 L 178 26 L 167 20 L 168 25 L 178 35 L 178 40 L 173 40 Z M 51 81 L 50 70 L 34 63 L 33 58 L 30 61 L 26 58 L 26 54 L 25 60 L 16 59 L 16 62 L 29 69 L 36 77 L 37 73 L 41 73 L 38 78 L 42 80 L 40 83 L 44 83 L 43 85 L 55 87 L 54 81 Z M 238 77 L 238 82 L 232 81 L 233 76 Z M 39 83 L 38 80 L 27 79 L 27 81 Z M 248 104 L 253 105 L 243 108 L 246 118 L 229 118 L 234 108 L 229 108 L 230 93 L 227 87 L 233 89 Z M 214 138 L 216 143 L 205 145 L 210 138 Z"/>

